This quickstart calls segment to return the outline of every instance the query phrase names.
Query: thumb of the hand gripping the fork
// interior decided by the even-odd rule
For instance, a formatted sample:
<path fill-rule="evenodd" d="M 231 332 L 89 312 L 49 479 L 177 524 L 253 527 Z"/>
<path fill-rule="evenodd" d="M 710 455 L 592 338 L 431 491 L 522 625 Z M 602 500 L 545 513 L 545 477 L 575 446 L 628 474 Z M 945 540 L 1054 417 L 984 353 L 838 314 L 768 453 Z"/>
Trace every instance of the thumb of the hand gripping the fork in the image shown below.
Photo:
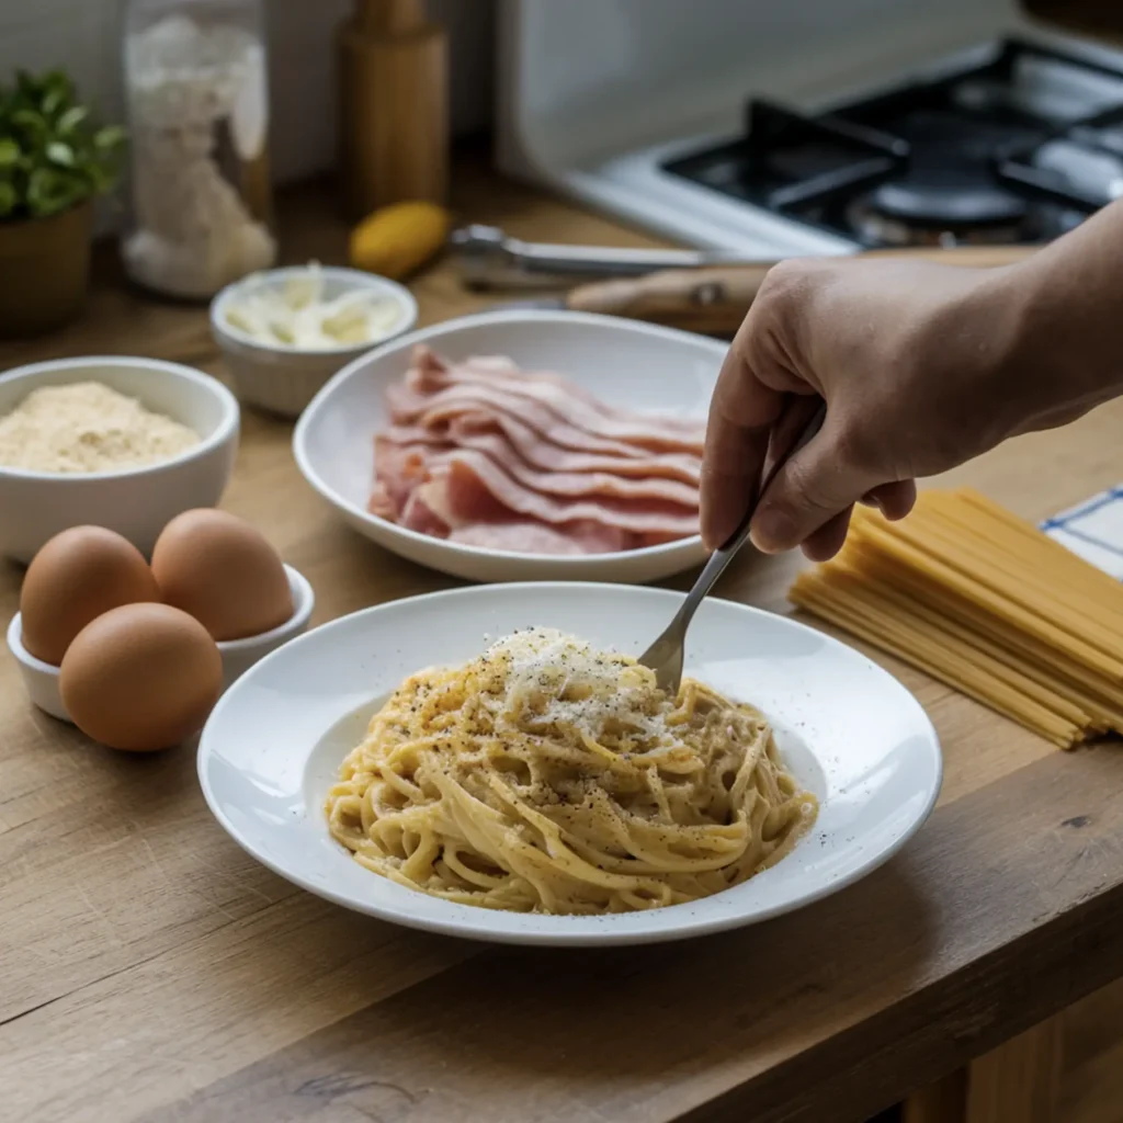
<path fill-rule="evenodd" d="M 752 518 L 752 544 L 765 554 L 795 549 L 884 481 L 844 455 L 827 423 L 776 473 Z"/>

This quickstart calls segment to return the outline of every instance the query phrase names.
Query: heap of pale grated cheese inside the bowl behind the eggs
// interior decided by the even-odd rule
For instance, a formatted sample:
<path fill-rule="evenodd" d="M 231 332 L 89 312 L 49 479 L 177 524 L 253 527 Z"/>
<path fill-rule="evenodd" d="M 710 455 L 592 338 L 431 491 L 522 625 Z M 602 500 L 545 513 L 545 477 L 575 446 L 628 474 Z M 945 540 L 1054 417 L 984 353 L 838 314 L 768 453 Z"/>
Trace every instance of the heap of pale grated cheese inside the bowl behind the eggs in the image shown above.
<path fill-rule="evenodd" d="M 199 433 L 100 382 L 33 390 L 0 418 L 0 466 L 67 474 L 168 460 Z"/>

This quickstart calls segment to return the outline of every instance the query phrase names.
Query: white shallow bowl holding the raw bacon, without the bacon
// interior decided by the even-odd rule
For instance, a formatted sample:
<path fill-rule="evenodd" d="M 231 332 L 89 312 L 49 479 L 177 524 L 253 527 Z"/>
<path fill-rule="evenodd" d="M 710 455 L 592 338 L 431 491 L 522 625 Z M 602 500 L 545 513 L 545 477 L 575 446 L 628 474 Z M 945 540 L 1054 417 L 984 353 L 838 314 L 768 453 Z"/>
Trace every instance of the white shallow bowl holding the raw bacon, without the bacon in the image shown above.
<path fill-rule="evenodd" d="M 483 312 L 411 332 L 340 371 L 316 395 L 293 435 L 304 478 L 359 533 L 381 546 L 469 581 L 658 581 L 705 559 L 700 538 L 617 554 L 517 554 L 458 546 L 407 530 L 366 510 L 374 433 L 389 422 L 384 392 L 410 365 L 417 344 L 448 358 L 505 355 L 549 369 L 609 405 L 704 418 L 725 344 L 686 331 L 583 312 Z"/>

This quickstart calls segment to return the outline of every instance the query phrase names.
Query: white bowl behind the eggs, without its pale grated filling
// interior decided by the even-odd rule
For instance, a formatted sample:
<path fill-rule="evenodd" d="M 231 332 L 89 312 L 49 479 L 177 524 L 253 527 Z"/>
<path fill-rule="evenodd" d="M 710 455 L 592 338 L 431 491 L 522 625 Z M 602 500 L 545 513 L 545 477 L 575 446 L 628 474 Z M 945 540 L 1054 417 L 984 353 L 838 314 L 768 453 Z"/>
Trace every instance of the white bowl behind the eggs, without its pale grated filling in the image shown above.
<path fill-rule="evenodd" d="M 216 378 L 154 358 L 64 358 L 0 374 L 0 417 L 40 386 L 100 382 L 194 429 L 200 444 L 148 467 L 64 475 L 0 466 L 0 554 L 27 564 L 70 527 L 124 535 L 146 557 L 183 511 L 214 506 L 238 450 L 238 402 Z"/>

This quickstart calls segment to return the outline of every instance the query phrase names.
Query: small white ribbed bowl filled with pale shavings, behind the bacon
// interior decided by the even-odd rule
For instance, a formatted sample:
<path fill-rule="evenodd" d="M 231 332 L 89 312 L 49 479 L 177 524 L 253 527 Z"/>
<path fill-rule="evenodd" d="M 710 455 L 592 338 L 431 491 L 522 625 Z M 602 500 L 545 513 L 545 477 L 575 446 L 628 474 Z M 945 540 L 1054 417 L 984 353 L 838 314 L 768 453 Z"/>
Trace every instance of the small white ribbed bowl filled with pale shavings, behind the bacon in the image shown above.
<path fill-rule="evenodd" d="M 317 264 L 255 273 L 211 304 L 211 330 L 235 392 L 294 418 L 337 371 L 417 322 L 408 289 Z"/>

